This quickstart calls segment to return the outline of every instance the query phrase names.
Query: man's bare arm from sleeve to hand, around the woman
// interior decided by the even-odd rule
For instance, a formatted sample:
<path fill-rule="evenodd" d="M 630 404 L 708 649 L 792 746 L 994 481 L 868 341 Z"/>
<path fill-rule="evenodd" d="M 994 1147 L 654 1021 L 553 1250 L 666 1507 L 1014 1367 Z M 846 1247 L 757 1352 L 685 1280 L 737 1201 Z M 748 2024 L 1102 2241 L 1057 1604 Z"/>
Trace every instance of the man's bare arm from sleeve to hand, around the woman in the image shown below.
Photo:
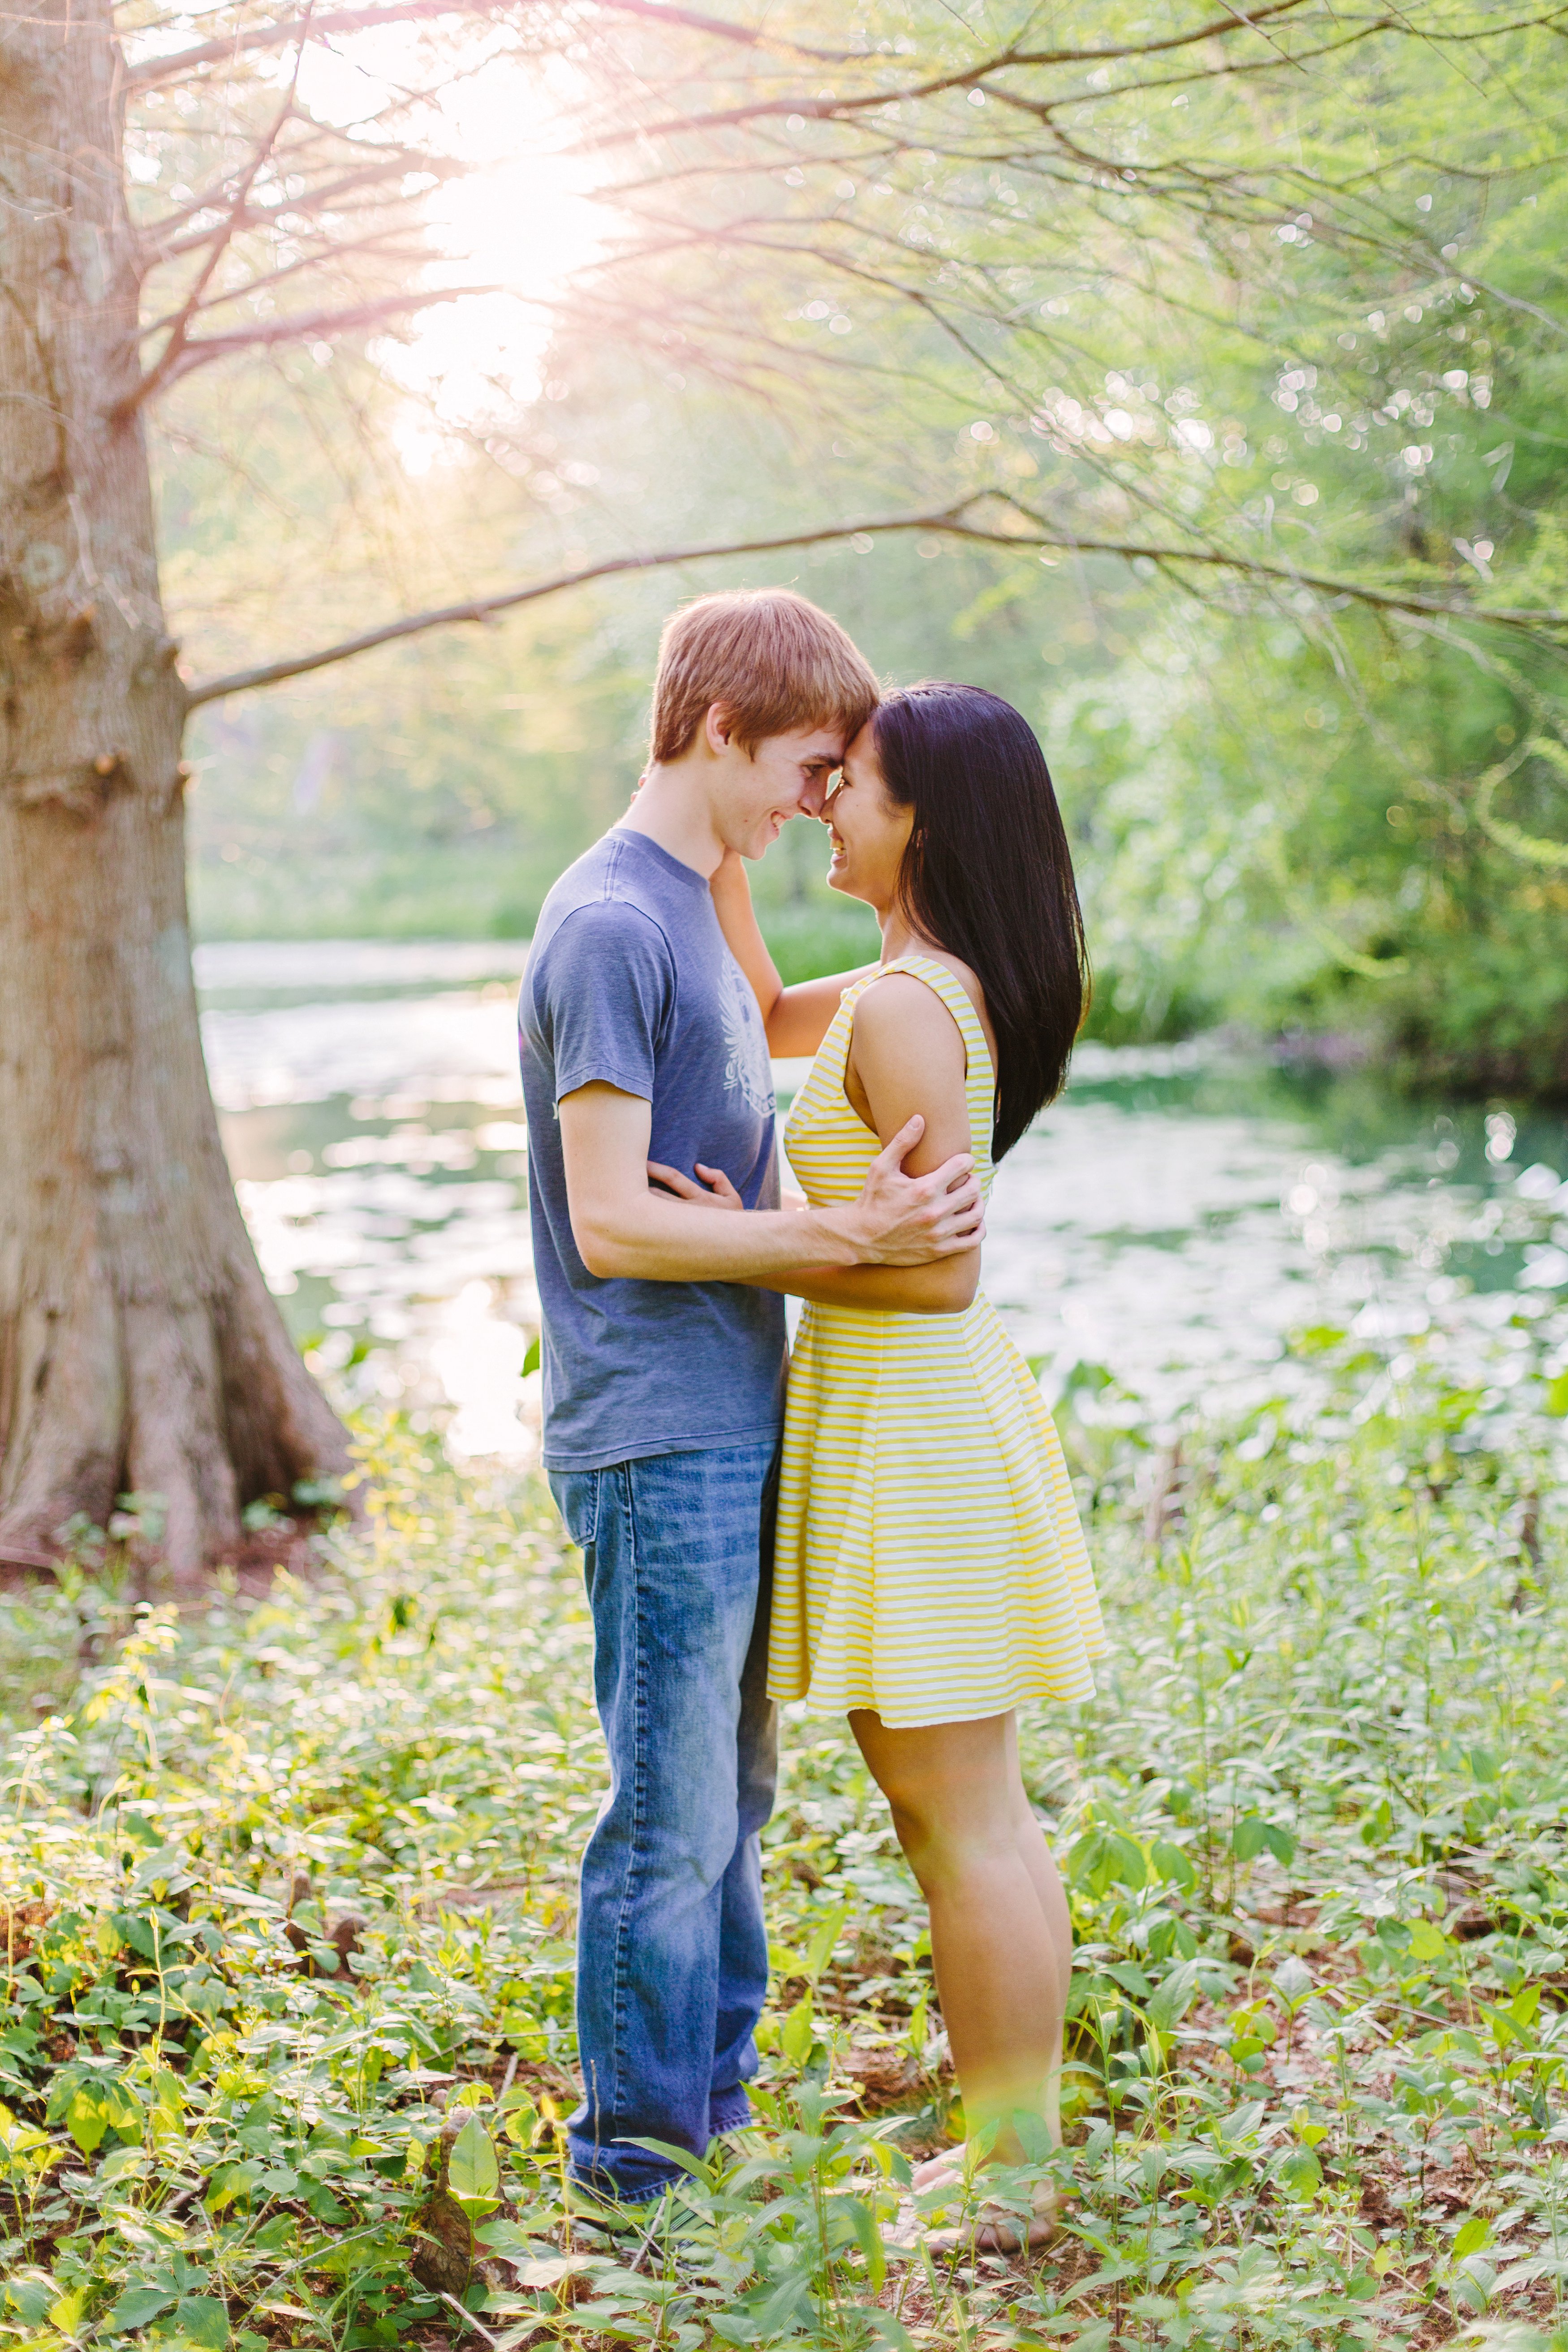
<path fill-rule="evenodd" d="M 571 1235 L 590 1275 L 745 1282 L 835 1265 L 926 1265 L 973 1251 L 980 1185 L 966 1152 L 905 1176 L 917 1115 L 872 1160 L 858 1200 L 830 1209 L 686 1207 L 649 1185 L 651 1105 L 602 1082 L 559 1101 Z M 733 1200 L 733 1195 L 731 1195 Z"/>

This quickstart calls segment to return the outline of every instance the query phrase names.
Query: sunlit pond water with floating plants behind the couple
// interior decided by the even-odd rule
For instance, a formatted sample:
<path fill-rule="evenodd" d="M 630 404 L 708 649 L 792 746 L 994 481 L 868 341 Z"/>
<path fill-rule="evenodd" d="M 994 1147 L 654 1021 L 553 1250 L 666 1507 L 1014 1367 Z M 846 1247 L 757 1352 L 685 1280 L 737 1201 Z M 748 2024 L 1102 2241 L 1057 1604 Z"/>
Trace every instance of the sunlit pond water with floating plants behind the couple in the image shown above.
<path fill-rule="evenodd" d="M 207 1065 L 261 1265 L 317 1369 L 538 1444 L 517 943 L 209 943 Z M 780 1103 L 804 1063 L 778 1063 Z M 1286 1334 L 1507 1338 L 1568 1305 L 1568 1120 L 1222 1042 L 1086 1044 L 997 1171 L 985 1289 L 1048 1388 L 1171 1416 L 1295 1378 Z M 1095 1371 L 1095 1381 L 1098 1381 Z M 1079 1374 L 1081 1378 L 1081 1374 Z M 1110 1406 L 1107 1406 L 1110 1409 Z M 1131 1409 L 1131 1406 L 1128 1406 Z"/>

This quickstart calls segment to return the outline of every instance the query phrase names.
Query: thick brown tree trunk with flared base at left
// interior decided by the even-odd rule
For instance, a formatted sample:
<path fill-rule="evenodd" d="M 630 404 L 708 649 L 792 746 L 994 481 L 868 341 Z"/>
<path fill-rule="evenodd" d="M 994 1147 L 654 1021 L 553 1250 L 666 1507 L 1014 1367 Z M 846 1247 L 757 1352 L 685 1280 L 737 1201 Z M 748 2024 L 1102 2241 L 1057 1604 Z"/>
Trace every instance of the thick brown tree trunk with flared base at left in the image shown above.
<path fill-rule="evenodd" d="M 193 1581 L 346 1468 L 207 1089 L 108 0 L 0 26 L 0 1559 L 122 1489 Z"/>

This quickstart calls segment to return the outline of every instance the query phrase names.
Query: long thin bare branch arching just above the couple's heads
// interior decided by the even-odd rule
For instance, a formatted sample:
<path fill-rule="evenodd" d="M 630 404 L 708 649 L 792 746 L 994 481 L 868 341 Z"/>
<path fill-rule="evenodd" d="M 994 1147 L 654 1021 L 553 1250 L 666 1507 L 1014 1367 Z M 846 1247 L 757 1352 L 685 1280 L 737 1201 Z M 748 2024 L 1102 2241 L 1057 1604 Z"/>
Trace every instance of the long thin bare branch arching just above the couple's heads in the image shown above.
<path fill-rule="evenodd" d="M 1004 508 L 1009 527 L 1001 522 L 985 524 L 969 520 L 976 508 L 997 503 Z M 541 597 L 559 595 L 567 588 L 583 588 L 588 581 L 614 579 L 621 572 L 668 572 L 675 564 L 715 562 L 724 555 L 780 555 L 788 548 L 818 548 L 835 539 L 891 539 L 898 532 L 943 534 L 947 539 L 966 539 L 980 546 L 1009 548 L 1016 553 L 1051 548 L 1063 555 L 1117 555 L 1124 562 L 1143 560 L 1161 567 L 1201 564 L 1206 569 L 1229 572 L 1237 579 L 1269 581 L 1286 588 L 1309 588 L 1314 595 L 1352 597 L 1375 612 L 1406 612 L 1420 614 L 1422 619 L 1472 623 L 1486 621 L 1497 628 L 1537 637 L 1544 644 L 1556 644 L 1559 633 L 1568 630 L 1568 612 L 1462 604 L 1453 597 L 1429 597 L 1415 590 L 1368 588 L 1361 581 L 1335 579 L 1333 574 L 1321 572 L 1298 572 L 1291 564 L 1265 564 L 1248 555 L 1232 555 L 1222 548 L 1171 548 L 1131 539 L 1084 539 L 1079 532 L 1056 529 L 1044 515 L 1023 506 L 1006 489 L 983 489 L 961 499 L 957 506 L 938 508 L 926 515 L 882 515 L 870 522 L 825 522 L 811 532 L 785 532 L 773 539 L 708 541 L 696 548 L 658 548 L 642 555 L 611 555 L 604 562 L 583 564 L 576 572 L 557 572 L 550 579 L 529 581 L 524 588 L 501 588 L 496 595 L 473 597 L 463 604 L 437 604 L 430 612 L 404 614 L 397 621 L 383 621 L 381 628 L 367 628 L 357 637 L 341 637 L 336 644 L 324 644 L 313 654 L 287 654 L 282 661 L 263 661 L 254 670 L 228 670 L 223 677 L 197 680 L 186 689 L 186 708 L 200 710 L 202 703 L 216 703 L 230 694 L 249 694 L 254 687 L 275 687 L 287 677 L 306 677 L 310 670 L 331 668 L 336 661 L 350 661 L 355 654 L 369 654 L 381 644 L 397 644 L 402 637 L 421 637 L 430 628 L 451 628 L 461 621 L 491 621 L 501 612 L 515 612 L 520 604 L 536 604 Z"/>

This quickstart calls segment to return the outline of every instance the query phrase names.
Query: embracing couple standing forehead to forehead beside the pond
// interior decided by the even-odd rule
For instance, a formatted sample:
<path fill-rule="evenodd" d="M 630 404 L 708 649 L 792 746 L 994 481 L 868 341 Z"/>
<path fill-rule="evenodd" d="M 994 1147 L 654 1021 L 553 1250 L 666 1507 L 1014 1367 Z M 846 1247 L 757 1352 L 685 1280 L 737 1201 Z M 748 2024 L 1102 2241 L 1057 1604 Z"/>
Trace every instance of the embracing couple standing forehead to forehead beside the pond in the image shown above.
<path fill-rule="evenodd" d="M 830 828 L 882 962 L 783 988 L 743 861 L 792 816 Z M 611 1766 L 569 2126 L 599 2197 L 677 2178 L 639 2140 L 703 2154 L 748 2122 L 759 1830 L 804 1696 L 849 1715 L 931 1907 L 971 2140 L 1018 2161 L 1020 2110 L 1056 2136 L 1072 1931 L 1016 1708 L 1088 1696 L 1105 1637 L 978 1272 L 992 1164 L 1081 1007 L 1067 840 L 1009 703 L 882 696 L 783 590 L 670 621 L 639 793 L 550 891 L 520 1009 L 543 1458 Z M 804 1202 L 780 1202 L 771 1054 L 816 1056 L 785 1127 Z"/>

